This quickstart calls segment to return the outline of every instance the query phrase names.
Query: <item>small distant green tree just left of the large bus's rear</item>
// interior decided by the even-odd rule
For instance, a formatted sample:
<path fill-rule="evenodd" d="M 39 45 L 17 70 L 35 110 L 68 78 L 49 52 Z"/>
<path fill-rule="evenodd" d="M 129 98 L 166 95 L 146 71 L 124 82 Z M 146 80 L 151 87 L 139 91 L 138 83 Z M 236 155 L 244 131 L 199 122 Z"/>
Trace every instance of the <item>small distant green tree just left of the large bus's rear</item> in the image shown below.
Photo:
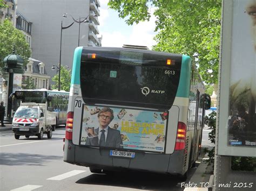
<path fill-rule="evenodd" d="M 52 89 L 58 89 L 59 75 L 56 74 L 52 81 L 55 82 L 51 86 Z M 60 66 L 60 90 L 69 91 L 71 82 L 71 70 L 68 70 L 65 66 Z"/>

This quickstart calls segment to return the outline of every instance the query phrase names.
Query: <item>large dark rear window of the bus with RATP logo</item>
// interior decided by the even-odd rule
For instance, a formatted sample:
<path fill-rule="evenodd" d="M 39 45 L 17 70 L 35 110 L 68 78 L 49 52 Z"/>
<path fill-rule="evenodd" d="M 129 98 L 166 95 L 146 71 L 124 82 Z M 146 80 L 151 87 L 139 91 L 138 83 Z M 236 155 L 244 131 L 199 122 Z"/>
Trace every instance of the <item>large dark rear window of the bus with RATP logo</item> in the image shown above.
<path fill-rule="evenodd" d="M 85 103 L 170 109 L 177 93 L 181 55 L 152 51 L 97 52 L 84 49 L 80 68 Z M 175 65 L 167 66 L 172 59 Z"/>

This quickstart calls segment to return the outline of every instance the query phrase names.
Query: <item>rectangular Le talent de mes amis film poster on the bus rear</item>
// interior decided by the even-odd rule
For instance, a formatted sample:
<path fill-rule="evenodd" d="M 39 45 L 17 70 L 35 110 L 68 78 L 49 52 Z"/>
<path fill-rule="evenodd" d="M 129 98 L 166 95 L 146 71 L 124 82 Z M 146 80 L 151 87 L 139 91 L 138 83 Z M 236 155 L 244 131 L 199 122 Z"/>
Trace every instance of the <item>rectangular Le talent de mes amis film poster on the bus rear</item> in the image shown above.
<path fill-rule="evenodd" d="M 167 112 L 84 105 L 80 145 L 164 152 L 167 116 Z"/>

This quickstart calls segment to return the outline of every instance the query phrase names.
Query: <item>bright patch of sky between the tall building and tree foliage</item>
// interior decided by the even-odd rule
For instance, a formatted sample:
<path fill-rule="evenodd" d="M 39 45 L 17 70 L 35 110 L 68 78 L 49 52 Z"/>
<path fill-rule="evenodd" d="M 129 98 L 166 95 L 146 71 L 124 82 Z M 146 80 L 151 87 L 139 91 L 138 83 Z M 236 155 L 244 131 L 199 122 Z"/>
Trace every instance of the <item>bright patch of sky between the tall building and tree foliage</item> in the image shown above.
<path fill-rule="evenodd" d="M 125 44 L 147 46 L 152 49 L 156 44 L 153 37 L 156 18 L 151 14 L 149 22 L 140 22 L 129 26 L 125 19 L 118 17 L 118 12 L 107 8 L 107 0 L 100 0 L 98 37 L 102 36 L 102 46 L 122 47 Z M 153 10 L 152 10 L 153 11 Z"/>

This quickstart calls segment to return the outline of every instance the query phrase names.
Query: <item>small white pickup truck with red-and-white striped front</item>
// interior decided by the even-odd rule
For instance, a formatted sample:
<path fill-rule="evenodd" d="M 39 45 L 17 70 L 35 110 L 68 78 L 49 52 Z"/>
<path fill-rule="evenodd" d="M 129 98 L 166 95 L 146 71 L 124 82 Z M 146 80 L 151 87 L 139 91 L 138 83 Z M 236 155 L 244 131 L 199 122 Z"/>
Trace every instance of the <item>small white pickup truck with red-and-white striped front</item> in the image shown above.
<path fill-rule="evenodd" d="M 16 139 L 19 136 L 37 136 L 42 139 L 44 133 L 50 139 L 55 126 L 56 114 L 48 111 L 45 104 L 22 103 L 12 119 L 12 131 Z"/>

